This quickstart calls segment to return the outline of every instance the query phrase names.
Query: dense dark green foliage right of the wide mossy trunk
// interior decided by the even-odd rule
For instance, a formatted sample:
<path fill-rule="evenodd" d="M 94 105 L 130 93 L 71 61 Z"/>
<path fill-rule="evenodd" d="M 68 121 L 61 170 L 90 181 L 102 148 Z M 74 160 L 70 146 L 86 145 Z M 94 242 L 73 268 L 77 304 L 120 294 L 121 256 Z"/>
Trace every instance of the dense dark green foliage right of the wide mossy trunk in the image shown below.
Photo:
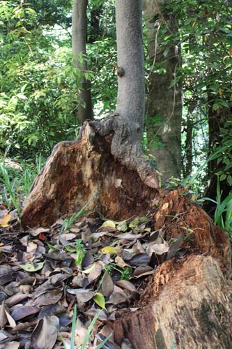
<path fill-rule="evenodd" d="M 183 80 L 183 176 L 215 153 L 201 181 L 218 174 L 231 186 L 231 5 L 220 0 L 173 0 L 162 8 L 166 13 L 176 17 L 178 35 L 167 35 L 162 27 L 158 40 L 166 46 L 181 43 L 183 57 L 173 80 L 173 84 Z"/>

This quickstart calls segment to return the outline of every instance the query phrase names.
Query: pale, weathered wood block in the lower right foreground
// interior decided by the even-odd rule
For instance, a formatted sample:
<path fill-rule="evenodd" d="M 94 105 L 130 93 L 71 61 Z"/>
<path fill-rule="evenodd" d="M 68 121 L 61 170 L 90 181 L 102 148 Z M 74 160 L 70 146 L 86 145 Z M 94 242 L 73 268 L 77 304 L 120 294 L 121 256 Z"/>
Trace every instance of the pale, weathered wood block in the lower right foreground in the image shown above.
<path fill-rule="evenodd" d="M 231 281 L 211 256 L 190 255 L 158 267 L 141 298 L 113 324 L 116 343 L 134 349 L 229 349 L 232 343 Z"/>

